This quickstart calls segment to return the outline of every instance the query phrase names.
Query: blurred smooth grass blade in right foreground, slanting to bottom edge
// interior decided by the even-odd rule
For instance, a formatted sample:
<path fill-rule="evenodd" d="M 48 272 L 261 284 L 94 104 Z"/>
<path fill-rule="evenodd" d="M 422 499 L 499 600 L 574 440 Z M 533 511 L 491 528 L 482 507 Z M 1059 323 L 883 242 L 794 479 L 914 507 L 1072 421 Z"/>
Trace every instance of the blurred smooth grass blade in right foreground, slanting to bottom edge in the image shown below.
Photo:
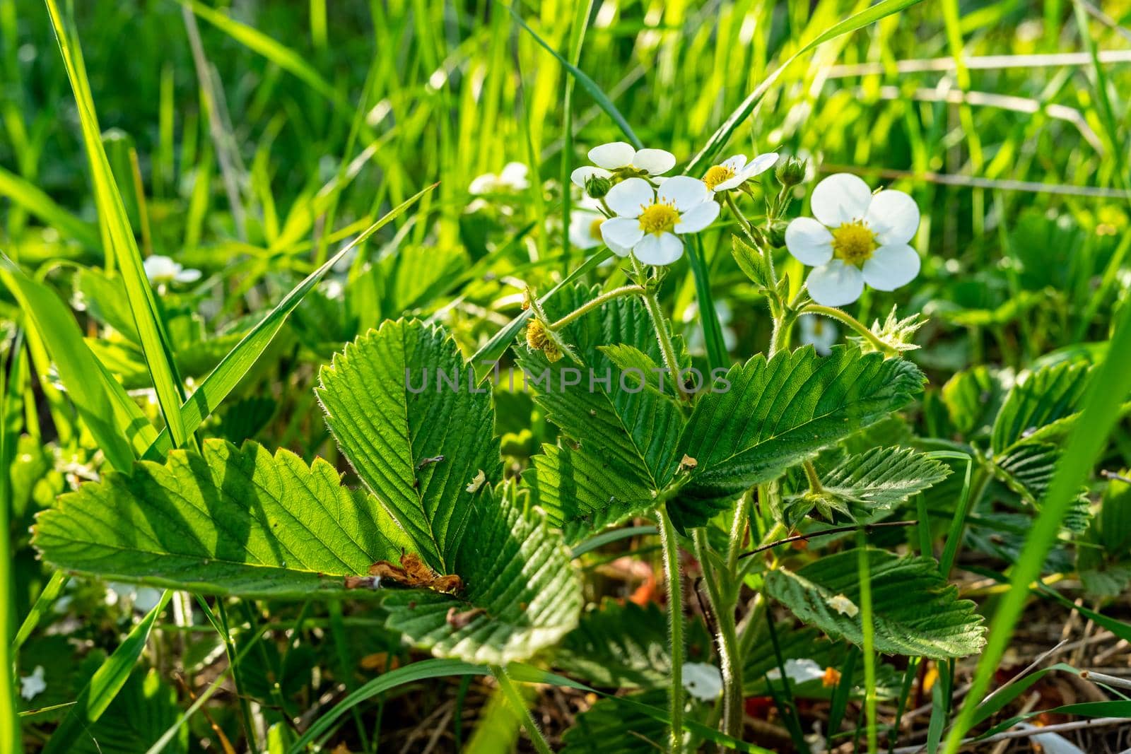
<path fill-rule="evenodd" d="M 990 638 L 978 662 L 970 692 L 947 737 L 946 754 L 958 752 L 962 736 L 970 728 L 977 704 L 990 688 L 998 664 L 1001 661 L 1025 603 L 1029 584 L 1041 575 L 1048 548 L 1056 539 L 1061 521 L 1078 491 L 1083 485 L 1093 463 L 1099 457 L 1104 442 L 1120 418 L 1120 406 L 1131 392 L 1131 307 L 1120 312 L 1115 333 L 1107 348 L 1106 361 L 1097 367 L 1080 419 L 1073 425 L 1064 448 L 1064 456 L 1056 467 L 1048 492 L 1025 541 L 1005 592 L 993 622 Z"/>

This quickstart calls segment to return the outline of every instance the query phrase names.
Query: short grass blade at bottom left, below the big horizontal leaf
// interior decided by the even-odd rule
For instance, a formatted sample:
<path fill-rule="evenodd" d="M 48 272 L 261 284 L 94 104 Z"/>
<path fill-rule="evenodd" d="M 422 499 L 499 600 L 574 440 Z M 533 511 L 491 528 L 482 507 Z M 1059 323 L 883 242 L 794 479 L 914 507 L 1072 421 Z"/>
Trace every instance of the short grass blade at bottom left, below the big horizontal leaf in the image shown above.
<path fill-rule="evenodd" d="M 70 708 L 67 717 L 51 735 L 48 745 L 43 747 L 43 754 L 71 751 L 85 735 L 86 726 L 102 717 L 110 703 L 114 701 L 114 696 L 126 685 L 130 670 L 141 657 L 141 650 L 145 649 L 146 642 L 149 640 L 149 632 L 153 630 L 157 616 L 165 609 L 165 605 L 172 596 L 173 592 L 166 590 L 157 606 L 133 626 L 126 640 L 95 671 L 94 677 L 79 693 L 78 700 Z"/>

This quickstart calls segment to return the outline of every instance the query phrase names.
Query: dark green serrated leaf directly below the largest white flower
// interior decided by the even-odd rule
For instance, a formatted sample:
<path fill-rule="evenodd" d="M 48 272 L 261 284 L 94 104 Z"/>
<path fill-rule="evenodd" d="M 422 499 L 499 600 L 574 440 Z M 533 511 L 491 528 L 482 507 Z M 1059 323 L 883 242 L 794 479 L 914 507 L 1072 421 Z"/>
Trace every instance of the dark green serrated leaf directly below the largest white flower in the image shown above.
<path fill-rule="evenodd" d="M 756 356 L 725 380 L 696 404 L 680 442 L 697 467 L 676 506 L 697 515 L 903 408 L 924 378 L 910 362 L 837 346 L 823 358 L 811 347 Z"/>

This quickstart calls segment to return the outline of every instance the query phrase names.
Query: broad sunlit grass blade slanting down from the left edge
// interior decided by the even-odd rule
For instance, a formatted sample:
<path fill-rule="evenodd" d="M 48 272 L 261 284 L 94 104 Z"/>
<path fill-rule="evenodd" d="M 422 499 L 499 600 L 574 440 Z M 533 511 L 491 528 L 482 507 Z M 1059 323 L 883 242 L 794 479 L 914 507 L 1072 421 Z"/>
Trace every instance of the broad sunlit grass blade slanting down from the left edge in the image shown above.
<path fill-rule="evenodd" d="M 129 473 L 135 458 L 157 436 L 153 425 L 90 353 L 75 318 L 53 291 L 27 277 L 3 254 L 0 254 L 0 280 L 24 310 L 32 326 L 28 337 L 42 339 L 67 396 L 106 460 L 119 471 Z"/>

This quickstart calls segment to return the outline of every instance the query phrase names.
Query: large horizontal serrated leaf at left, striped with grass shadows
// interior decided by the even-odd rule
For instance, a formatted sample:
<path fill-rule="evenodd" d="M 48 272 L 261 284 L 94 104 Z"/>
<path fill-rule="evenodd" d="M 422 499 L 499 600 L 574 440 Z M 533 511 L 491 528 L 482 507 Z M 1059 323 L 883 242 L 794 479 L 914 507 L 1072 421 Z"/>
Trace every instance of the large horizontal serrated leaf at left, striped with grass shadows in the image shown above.
<path fill-rule="evenodd" d="M 219 440 L 62 495 L 33 544 L 69 571 L 262 598 L 374 593 L 346 590 L 343 577 L 412 545 L 326 461 Z"/>

